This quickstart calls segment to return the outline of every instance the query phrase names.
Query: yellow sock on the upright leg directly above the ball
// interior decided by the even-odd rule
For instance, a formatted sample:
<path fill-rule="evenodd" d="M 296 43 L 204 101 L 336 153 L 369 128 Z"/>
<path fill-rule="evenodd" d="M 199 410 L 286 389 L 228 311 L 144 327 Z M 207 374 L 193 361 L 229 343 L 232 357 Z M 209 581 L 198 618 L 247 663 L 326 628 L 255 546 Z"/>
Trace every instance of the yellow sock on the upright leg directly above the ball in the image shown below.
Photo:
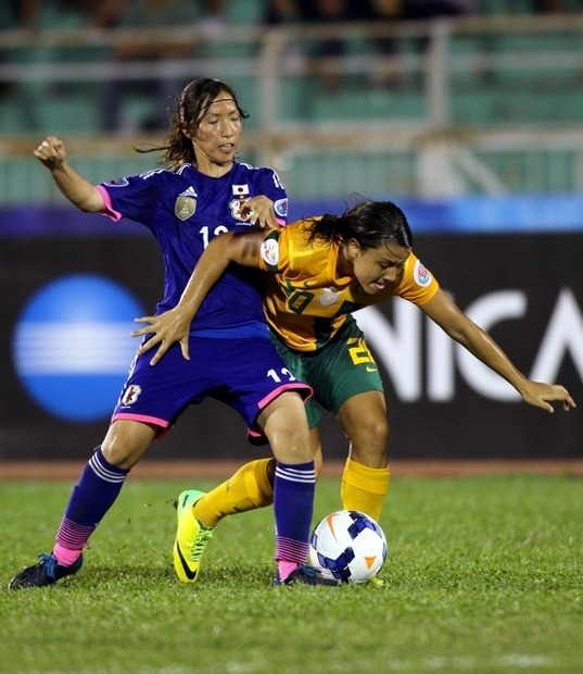
<path fill-rule="evenodd" d="M 342 507 L 346 510 L 359 510 L 378 522 L 389 490 L 390 476 L 388 467 L 371 469 L 346 459 L 340 489 Z"/>

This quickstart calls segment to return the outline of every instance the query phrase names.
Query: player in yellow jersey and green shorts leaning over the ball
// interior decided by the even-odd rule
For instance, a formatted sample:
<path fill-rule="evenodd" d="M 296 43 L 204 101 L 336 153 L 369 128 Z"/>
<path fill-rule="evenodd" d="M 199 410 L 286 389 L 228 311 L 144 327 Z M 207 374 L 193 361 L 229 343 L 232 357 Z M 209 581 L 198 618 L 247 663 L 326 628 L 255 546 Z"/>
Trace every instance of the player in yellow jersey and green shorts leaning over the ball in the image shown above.
<path fill-rule="evenodd" d="M 138 320 L 148 326 L 136 335 L 153 334 L 140 352 L 157 346 L 152 364 L 176 341 L 189 358 L 190 322 L 230 263 L 265 272 L 264 309 L 275 341 L 292 373 L 310 384 L 317 402 L 337 415 L 350 441 L 341 486 L 346 509 L 378 520 L 389 487 L 382 382 L 351 315 L 363 307 L 400 296 L 509 382 L 527 403 L 547 412 L 554 411 L 552 402 L 562 402 L 566 411 L 575 407 L 562 386 L 532 382 L 521 374 L 493 338 L 440 288 L 413 252 L 405 214 L 390 201 L 364 201 L 342 215 L 307 219 L 277 230 L 216 237 L 177 307 Z M 321 412 L 313 400 L 307 412 L 312 448 L 321 461 L 317 434 Z M 269 504 L 269 461 L 245 464 L 224 485 L 207 495 L 201 492 L 195 517 L 214 527 L 226 514 Z"/>

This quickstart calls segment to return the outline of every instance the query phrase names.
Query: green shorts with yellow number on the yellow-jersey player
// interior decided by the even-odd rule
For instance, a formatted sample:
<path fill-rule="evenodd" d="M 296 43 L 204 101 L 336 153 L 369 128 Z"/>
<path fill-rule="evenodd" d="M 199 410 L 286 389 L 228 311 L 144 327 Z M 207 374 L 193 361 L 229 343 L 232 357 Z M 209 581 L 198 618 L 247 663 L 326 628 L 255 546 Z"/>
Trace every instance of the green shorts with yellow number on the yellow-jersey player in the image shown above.
<path fill-rule="evenodd" d="M 314 397 L 306 403 L 310 428 L 321 419 L 320 405 L 335 414 L 348 398 L 383 390 L 377 363 L 352 315 L 317 351 L 290 349 L 274 333 L 271 338 L 293 376 L 314 389 Z"/>

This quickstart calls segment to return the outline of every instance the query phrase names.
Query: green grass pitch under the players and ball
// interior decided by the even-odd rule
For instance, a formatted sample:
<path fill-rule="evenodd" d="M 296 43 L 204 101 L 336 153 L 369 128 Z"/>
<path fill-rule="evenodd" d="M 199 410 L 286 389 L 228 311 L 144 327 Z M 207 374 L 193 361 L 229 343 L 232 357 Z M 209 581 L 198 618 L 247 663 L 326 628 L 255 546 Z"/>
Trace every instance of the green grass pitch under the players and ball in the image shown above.
<path fill-rule="evenodd" d="M 80 573 L 10 592 L 50 550 L 71 484 L 0 484 L 0 672 L 583 672 L 580 479 L 394 476 L 382 588 L 274 588 L 271 509 L 225 520 L 181 585 L 172 501 L 211 486 L 129 479 Z M 339 507 L 324 478 L 315 521 Z"/>

